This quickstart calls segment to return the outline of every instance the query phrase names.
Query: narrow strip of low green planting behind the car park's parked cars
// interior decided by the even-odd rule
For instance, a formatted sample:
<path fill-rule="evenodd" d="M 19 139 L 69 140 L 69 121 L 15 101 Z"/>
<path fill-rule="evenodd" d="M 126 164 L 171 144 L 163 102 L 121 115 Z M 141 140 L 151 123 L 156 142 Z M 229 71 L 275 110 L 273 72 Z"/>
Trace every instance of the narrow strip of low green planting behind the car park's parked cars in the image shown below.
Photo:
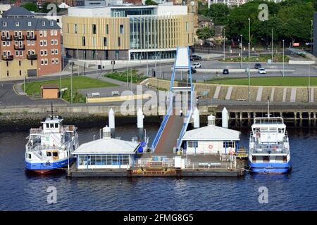
<path fill-rule="evenodd" d="M 259 63 L 263 63 L 263 62 L 267 62 L 268 59 L 271 59 L 272 56 L 271 54 L 268 55 L 260 55 L 260 56 L 251 56 L 250 57 L 250 62 L 259 62 Z M 288 56 L 284 56 L 284 61 L 285 63 L 288 62 L 290 58 Z M 221 59 L 220 61 L 223 61 L 223 59 Z M 242 61 L 243 62 L 248 62 L 249 61 L 249 57 L 247 55 L 243 56 L 242 55 Z M 283 55 L 282 54 L 273 54 L 273 62 L 282 62 L 283 61 Z M 236 57 L 228 57 L 225 58 L 225 62 L 241 62 L 241 57 L 236 56 Z"/>

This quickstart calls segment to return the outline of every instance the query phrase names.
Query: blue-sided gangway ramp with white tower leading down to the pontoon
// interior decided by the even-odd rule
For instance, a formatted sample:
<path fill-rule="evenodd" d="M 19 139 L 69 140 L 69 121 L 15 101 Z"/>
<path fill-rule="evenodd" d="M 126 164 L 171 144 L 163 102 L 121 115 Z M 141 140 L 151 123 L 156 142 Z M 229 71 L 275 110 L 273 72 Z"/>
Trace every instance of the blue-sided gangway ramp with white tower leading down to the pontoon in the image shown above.
<path fill-rule="evenodd" d="M 175 83 L 175 79 L 182 82 Z M 152 153 L 173 153 L 173 149 L 179 149 L 192 116 L 194 88 L 188 46 L 176 49 L 169 95 L 166 115 L 151 146 Z M 180 116 L 180 110 L 183 116 Z"/>

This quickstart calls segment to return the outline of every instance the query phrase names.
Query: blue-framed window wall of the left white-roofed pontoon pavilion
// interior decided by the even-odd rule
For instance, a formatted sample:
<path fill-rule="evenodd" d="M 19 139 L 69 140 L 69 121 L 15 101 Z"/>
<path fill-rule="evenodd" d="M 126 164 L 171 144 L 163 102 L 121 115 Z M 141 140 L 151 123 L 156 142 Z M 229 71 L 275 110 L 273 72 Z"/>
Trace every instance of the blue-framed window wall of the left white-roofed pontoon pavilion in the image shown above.
<path fill-rule="evenodd" d="M 107 165 L 115 165 L 115 166 L 124 166 L 130 165 L 129 162 L 130 155 L 78 155 L 77 156 L 77 165 L 85 166 L 87 168 L 89 166 L 107 166 Z"/>

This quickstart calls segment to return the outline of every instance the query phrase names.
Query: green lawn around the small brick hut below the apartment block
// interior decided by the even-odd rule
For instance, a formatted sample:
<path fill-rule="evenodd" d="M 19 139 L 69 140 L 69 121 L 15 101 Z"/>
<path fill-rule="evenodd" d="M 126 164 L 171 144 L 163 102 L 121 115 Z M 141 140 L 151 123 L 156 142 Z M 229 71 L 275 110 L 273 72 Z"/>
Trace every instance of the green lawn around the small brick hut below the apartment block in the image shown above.
<path fill-rule="evenodd" d="M 60 86 L 61 82 L 61 89 L 68 88 L 68 91 L 63 92 L 63 99 L 66 101 L 70 101 L 70 77 L 60 79 L 51 79 L 46 81 L 37 81 L 37 82 L 27 82 L 25 84 L 25 92 L 29 96 L 39 97 L 41 92 L 41 85 L 42 84 L 58 84 Z M 117 84 L 112 84 L 109 82 L 104 82 L 100 79 L 93 79 L 89 77 L 73 77 L 73 102 L 80 102 L 82 103 L 85 100 L 85 96 L 78 93 L 77 90 L 79 89 L 91 89 L 97 87 L 107 87 L 107 86 L 117 86 Z M 22 86 L 24 89 L 24 84 Z"/>

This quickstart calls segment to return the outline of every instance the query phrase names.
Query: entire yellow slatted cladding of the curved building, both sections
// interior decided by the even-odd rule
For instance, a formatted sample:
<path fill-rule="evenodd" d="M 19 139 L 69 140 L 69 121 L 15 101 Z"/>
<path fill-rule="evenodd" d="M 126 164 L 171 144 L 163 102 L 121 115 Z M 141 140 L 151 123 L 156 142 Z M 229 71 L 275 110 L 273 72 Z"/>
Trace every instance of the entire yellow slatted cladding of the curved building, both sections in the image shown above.
<path fill-rule="evenodd" d="M 158 21 L 157 27 L 156 23 L 151 22 L 153 20 Z M 96 25 L 96 34 L 92 33 L 93 25 Z M 123 34 L 120 34 L 120 25 L 123 25 Z M 146 34 L 145 30 L 149 32 Z M 130 49 L 130 32 L 132 32 L 130 18 L 63 16 L 63 45 L 67 49 Z M 149 49 L 154 49 L 154 46 L 158 49 L 192 46 L 194 44 L 194 14 L 151 16 L 143 26 L 137 25 L 135 32 L 142 34 L 139 36 L 139 49 L 147 48 L 146 39 L 149 40 Z M 156 43 L 154 34 L 158 35 L 157 45 L 154 44 Z M 82 46 L 82 37 L 85 37 L 85 46 Z M 106 46 L 104 46 L 104 37 L 106 37 Z M 120 46 L 118 46 L 118 37 L 120 37 Z"/>

